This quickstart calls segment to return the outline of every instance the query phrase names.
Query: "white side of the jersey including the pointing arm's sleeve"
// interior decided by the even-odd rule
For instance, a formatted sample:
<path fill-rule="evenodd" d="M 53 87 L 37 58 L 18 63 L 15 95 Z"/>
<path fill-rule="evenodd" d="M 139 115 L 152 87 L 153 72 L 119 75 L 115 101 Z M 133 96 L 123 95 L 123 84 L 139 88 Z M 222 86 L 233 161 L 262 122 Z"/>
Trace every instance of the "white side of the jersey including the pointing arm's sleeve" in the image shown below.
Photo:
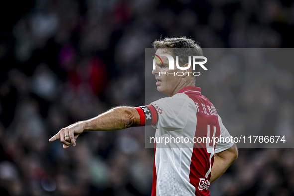
<path fill-rule="evenodd" d="M 189 138 L 189 143 L 156 143 L 156 193 L 159 196 L 195 196 L 195 187 L 190 183 L 190 165 L 193 153 L 192 138 L 197 125 L 197 108 L 186 94 L 176 94 L 152 103 L 158 106 L 155 137 Z M 174 119 L 173 119 L 174 118 Z M 175 129 L 175 127 L 180 127 Z M 159 140 L 158 140 L 159 141 Z M 168 180 L 167 180 L 168 179 Z"/>

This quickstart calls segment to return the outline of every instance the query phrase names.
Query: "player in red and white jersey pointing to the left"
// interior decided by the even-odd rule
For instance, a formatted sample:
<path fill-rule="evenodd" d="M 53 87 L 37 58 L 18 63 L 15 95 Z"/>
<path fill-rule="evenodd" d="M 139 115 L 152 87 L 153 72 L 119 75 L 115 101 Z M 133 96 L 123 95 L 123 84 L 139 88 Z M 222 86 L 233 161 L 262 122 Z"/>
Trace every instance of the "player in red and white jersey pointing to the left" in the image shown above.
<path fill-rule="evenodd" d="M 186 48 L 193 55 L 202 56 L 200 46 L 185 37 L 160 39 L 153 46 L 158 57 L 175 55 L 174 48 Z M 179 65 L 187 67 L 191 54 L 183 55 L 179 57 Z M 84 131 L 114 131 L 148 125 L 156 128 L 155 138 L 189 138 L 193 142 L 164 144 L 156 140 L 152 196 L 209 196 L 210 183 L 237 159 L 237 148 L 232 141 L 212 140 L 228 138 L 230 134 L 215 107 L 201 94 L 201 89 L 194 86 L 196 76 L 191 74 L 192 66 L 186 71 L 176 66 L 169 69 L 168 58 L 161 56 L 161 60 L 156 62 L 152 74 L 157 80 L 157 90 L 169 97 L 141 107 L 113 108 L 61 129 L 49 141 L 60 139 L 63 147 L 68 148 L 76 145 L 77 137 Z M 195 71 L 199 70 L 200 66 Z M 177 71 L 184 74 L 177 75 Z"/>

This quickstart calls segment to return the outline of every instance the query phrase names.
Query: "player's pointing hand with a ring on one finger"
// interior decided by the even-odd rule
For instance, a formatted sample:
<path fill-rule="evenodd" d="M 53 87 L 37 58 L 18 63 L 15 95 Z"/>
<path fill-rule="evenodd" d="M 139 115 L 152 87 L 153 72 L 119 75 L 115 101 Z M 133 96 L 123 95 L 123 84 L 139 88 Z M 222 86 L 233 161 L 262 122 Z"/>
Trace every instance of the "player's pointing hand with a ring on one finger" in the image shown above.
<path fill-rule="evenodd" d="M 60 139 L 60 142 L 63 143 L 64 149 L 67 149 L 71 144 L 76 146 L 76 139 L 84 130 L 84 122 L 76 122 L 75 124 L 61 129 L 56 135 L 49 139 L 49 142 Z"/>

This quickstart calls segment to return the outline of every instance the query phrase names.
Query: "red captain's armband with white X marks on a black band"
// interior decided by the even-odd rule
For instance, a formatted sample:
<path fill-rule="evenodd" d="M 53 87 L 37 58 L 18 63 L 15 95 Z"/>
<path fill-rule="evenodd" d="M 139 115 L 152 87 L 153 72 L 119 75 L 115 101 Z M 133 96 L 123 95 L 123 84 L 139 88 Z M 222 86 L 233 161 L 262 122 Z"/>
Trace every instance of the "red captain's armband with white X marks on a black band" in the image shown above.
<path fill-rule="evenodd" d="M 152 105 L 135 107 L 140 115 L 139 126 L 155 126 L 158 121 L 158 114 L 156 109 Z"/>

